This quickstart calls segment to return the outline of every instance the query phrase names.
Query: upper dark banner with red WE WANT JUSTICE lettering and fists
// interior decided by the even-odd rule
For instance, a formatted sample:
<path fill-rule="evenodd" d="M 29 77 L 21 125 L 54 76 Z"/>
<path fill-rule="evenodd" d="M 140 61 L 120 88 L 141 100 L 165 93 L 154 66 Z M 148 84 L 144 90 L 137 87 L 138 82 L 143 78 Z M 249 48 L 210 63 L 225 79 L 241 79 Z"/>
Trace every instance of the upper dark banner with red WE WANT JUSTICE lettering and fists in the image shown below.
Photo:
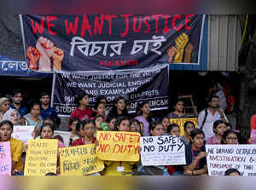
<path fill-rule="evenodd" d="M 202 14 L 22 15 L 29 68 L 36 71 L 198 66 Z"/>

